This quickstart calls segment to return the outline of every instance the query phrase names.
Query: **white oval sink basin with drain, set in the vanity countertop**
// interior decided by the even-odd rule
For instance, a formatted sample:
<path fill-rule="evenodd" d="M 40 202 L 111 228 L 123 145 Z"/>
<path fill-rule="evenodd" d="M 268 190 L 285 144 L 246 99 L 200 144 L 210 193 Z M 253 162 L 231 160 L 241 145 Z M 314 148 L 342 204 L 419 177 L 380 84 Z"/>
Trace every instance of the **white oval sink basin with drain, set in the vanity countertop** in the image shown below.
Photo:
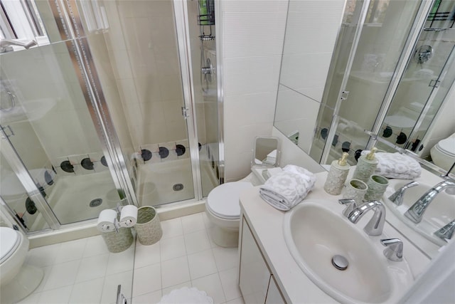
<path fill-rule="evenodd" d="M 387 260 L 380 245 L 387 236 L 367 236 L 363 226 L 343 219 L 328 203 L 336 204 L 314 199 L 285 214 L 284 240 L 291 256 L 311 281 L 341 303 L 395 302 L 413 281 L 406 261 Z M 346 270 L 332 265 L 336 255 L 348 260 Z"/>

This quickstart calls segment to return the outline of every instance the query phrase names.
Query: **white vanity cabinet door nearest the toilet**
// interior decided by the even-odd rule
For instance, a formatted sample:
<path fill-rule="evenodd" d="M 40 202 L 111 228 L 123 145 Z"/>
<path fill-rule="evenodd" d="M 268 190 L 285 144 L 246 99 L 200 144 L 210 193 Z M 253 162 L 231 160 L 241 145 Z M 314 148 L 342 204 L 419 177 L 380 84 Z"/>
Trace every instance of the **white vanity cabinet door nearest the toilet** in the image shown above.
<path fill-rule="evenodd" d="M 263 304 L 267 296 L 270 273 L 245 219 L 242 219 L 241 246 L 239 284 L 243 300 L 248 304 Z"/>

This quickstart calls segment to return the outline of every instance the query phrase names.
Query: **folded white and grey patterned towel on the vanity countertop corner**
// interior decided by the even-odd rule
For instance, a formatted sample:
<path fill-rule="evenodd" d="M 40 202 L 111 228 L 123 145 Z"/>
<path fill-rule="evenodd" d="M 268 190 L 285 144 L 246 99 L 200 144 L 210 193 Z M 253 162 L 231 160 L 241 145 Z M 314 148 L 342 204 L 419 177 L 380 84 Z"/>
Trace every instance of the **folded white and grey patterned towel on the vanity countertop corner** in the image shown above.
<path fill-rule="evenodd" d="M 313 189 L 316 177 L 308 170 L 294 165 L 287 165 L 283 170 L 267 179 L 259 188 L 259 194 L 268 204 L 287 211 L 299 204 Z"/>

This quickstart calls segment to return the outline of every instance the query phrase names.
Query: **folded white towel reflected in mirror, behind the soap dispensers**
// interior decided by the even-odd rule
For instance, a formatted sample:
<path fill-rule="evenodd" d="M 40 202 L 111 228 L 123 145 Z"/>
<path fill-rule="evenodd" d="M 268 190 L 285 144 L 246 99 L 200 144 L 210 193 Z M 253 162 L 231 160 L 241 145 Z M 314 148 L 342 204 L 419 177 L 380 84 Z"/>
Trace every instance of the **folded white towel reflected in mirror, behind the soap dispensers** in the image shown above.
<path fill-rule="evenodd" d="M 368 154 L 370 151 L 362 151 Z M 399 152 L 387 153 L 377 152 L 378 167 L 375 174 L 380 174 L 390 179 L 416 179 L 422 173 L 419 162 L 406 154 Z"/>

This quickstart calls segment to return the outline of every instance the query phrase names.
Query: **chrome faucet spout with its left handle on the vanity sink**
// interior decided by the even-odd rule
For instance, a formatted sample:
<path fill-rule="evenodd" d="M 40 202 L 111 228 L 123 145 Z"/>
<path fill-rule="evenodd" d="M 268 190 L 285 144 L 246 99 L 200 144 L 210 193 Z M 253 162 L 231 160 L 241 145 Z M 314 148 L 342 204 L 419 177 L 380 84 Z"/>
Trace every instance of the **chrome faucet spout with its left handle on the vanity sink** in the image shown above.
<path fill-rule="evenodd" d="M 348 214 L 348 220 L 351 223 L 357 224 L 363 215 L 369 210 L 374 210 L 375 213 L 366 224 L 363 231 L 369 236 L 380 236 L 385 222 L 385 206 L 380 201 L 367 201 L 360 206 L 356 206 L 353 211 Z"/>

